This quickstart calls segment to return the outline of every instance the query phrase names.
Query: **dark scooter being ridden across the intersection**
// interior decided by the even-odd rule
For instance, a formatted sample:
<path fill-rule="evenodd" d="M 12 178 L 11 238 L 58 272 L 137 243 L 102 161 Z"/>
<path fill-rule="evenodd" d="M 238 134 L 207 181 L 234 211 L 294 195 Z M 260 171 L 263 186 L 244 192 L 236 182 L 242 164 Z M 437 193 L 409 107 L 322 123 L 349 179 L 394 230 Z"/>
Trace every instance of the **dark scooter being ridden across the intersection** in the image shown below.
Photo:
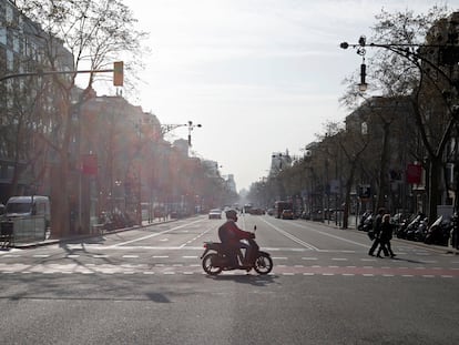
<path fill-rule="evenodd" d="M 254 230 L 256 230 L 256 227 L 254 227 Z M 256 244 L 254 239 L 245 241 L 247 241 L 252 247 L 257 247 L 257 245 L 254 245 Z M 241 255 L 238 256 L 241 257 Z M 251 265 L 233 266 L 221 242 L 204 242 L 204 253 L 201 255 L 203 270 L 210 275 L 218 275 L 222 271 L 233 270 L 245 270 L 247 272 L 255 270 L 258 274 L 265 275 L 273 270 L 273 260 L 268 253 L 258 250 L 257 253 L 254 253 L 254 257 L 255 260 Z"/>

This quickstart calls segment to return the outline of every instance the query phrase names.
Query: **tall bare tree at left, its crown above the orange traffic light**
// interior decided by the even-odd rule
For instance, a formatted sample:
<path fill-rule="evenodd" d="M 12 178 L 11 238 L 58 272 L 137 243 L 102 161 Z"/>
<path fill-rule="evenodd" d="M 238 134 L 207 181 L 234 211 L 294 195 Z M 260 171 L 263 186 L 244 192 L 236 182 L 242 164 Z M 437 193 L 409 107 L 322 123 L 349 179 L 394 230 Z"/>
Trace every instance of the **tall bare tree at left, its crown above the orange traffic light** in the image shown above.
<path fill-rule="evenodd" d="M 114 60 L 126 60 L 126 70 L 135 67 L 142 55 L 141 41 L 144 32 L 135 29 L 136 20 L 131 10 L 119 0 L 18 0 L 17 6 L 32 20 L 39 22 L 45 32 L 42 37 L 45 64 L 54 71 L 62 69 L 62 44 L 73 57 L 73 70 L 89 67 L 91 70 L 104 69 Z M 99 78 L 91 73 L 83 92 L 74 98 L 76 73 L 53 74 L 52 83 L 59 92 L 54 93 L 53 115 L 54 141 L 43 138 L 59 156 L 59 165 L 52 171 L 53 202 L 52 235 L 69 233 L 69 185 L 71 160 L 70 143 L 73 138 L 72 113 L 93 94 L 93 83 Z"/>

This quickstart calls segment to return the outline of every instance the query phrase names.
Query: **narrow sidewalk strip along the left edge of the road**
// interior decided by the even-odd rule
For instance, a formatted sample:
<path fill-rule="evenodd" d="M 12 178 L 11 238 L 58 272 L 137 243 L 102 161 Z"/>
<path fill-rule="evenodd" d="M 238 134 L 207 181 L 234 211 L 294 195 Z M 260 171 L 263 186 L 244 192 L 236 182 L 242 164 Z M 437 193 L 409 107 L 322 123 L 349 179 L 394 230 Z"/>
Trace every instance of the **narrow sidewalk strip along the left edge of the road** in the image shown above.
<path fill-rule="evenodd" d="M 139 229 L 143 229 L 143 227 L 146 227 L 146 226 L 165 224 L 165 223 L 170 223 L 170 222 L 174 222 L 174 221 L 176 221 L 176 219 L 155 219 L 155 220 L 153 220 L 153 222 L 143 221 L 141 226 L 134 225 L 132 227 L 115 229 L 115 230 L 103 231 L 103 232 L 92 232 L 92 233 L 89 233 L 89 234 L 73 234 L 73 235 L 68 235 L 68 236 L 62 237 L 62 239 L 47 239 L 47 240 L 43 240 L 43 241 L 34 241 L 34 242 L 28 242 L 28 243 L 14 243 L 13 246 L 8 247 L 8 248 L 2 248 L 2 250 L 10 250 L 10 248 L 26 250 L 26 248 L 32 248 L 32 247 L 43 246 L 43 245 L 52 245 L 52 244 L 68 243 L 68 242 L 79 242 L 81 240 L 115 234 L 115 233 L 119 233 L 119 232 L 124 232 L 124 231 L 130 231 L 130 230 L 139 230 Z"/>

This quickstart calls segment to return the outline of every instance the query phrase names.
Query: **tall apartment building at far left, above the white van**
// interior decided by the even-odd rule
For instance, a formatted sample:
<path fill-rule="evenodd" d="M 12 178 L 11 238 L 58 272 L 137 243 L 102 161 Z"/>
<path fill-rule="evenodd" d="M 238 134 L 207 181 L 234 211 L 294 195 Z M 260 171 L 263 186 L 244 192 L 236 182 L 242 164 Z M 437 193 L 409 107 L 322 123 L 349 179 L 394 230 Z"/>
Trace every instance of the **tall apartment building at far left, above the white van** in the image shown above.
<path fill-rule="evenodd" d="M 52 136 L 52 84 L 37 75 L 48 70 L 50 39 L 20 13 L 14 1 L 0 0 L 0 202 L 11 193 L 45 193 L 49 153 L 39 136 Z M 73 70 L 73 57 L 53 38 L 55 68 Z M 47 45 L 48 44 L 48 45 Z M 35 74 L 34 74 L 35 73 Z M 40 180 L 40 182 L 38 182 Z"/>

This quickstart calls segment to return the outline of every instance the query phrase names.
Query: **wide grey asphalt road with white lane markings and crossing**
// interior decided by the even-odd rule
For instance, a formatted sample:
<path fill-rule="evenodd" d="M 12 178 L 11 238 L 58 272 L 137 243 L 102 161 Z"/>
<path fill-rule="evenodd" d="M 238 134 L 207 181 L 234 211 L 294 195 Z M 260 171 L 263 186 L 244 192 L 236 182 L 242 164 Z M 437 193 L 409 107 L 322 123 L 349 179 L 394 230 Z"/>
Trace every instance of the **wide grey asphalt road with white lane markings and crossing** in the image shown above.
<path fill-rule="evenodd" d="M 239 217 L 274 270 L 205 275 L 194 217 L 0 252 L 2 344 L 455 344 L 459 256 L 306 221 Z"/>

